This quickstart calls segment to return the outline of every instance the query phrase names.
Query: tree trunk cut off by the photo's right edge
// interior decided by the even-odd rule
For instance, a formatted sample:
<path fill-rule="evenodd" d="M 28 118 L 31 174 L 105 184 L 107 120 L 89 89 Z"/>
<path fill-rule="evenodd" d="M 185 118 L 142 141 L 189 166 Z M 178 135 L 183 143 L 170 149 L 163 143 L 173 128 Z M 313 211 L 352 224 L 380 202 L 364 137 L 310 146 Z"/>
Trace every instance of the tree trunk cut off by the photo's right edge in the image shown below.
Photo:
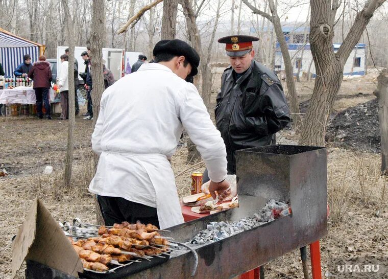
<path fill-rule="evenodd" d="M 373 92 L 378 99 L 381 136 L 381 173 L 388 171 L 388 77 L 386 70 L 377 77 L 377 89 Z"/>

